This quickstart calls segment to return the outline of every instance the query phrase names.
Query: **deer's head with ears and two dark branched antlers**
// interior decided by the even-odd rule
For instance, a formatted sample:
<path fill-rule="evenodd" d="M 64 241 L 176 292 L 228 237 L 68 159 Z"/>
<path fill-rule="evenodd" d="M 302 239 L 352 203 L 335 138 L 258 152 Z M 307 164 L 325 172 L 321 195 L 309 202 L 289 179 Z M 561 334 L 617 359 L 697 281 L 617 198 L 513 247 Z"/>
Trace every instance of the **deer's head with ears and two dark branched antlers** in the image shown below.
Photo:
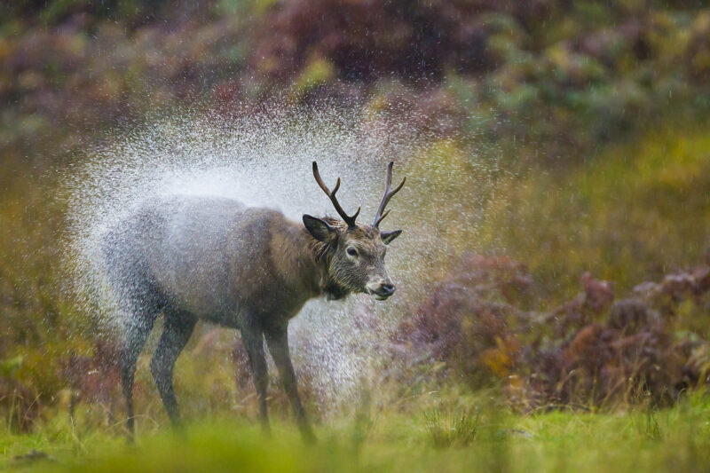
<path fill-rule="evenodd" d="M 399 192 L 406 179 L 390 190 L 392 183 L 392 162 L 387 165 L 384 196 L 375 214 L 372 225 L 355 221 L 360 209 L 349 216 L 338 203 L 335 193 L 340 188 L 338 177 L 332 191 L 320 178 L 318 165 L 313 162 L 313 176 L 323 192 L 333 202 L 335 210 L 343 220 L 332 217 L 316 218 L 304 215 L 304 225 L 312 237 L 319 242 L 319 257 L 327 264 L 329 298 L 336 299 L 350 292 L 366 293 L 383 301 L 394 294 L 394 284 L 384 267 L 387 245 L 397 238 L 401 230 L 385 232 L 380 230 L 380 222 L 390 213 L 384 208 L 395 193 Z"/>

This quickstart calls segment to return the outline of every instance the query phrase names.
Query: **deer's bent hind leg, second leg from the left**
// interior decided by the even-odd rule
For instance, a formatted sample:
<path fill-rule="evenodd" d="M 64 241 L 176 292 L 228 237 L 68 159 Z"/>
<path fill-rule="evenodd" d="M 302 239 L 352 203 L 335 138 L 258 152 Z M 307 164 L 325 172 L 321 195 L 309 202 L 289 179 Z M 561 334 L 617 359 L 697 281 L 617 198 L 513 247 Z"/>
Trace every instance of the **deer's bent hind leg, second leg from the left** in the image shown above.
<path fill-rule="evenodd" d="M 165 323 L 162 329 L 161 341 L 150 360 L 150 371 L 162 398 L 162 405 L 170 416 L 173 425 L 180 422 L 180 412 L 177 409 L 177 398 L 172 384 L 172 372 L 175 361 L 183 351 L 197 318 L 185 311 L 165 310 Z"/>

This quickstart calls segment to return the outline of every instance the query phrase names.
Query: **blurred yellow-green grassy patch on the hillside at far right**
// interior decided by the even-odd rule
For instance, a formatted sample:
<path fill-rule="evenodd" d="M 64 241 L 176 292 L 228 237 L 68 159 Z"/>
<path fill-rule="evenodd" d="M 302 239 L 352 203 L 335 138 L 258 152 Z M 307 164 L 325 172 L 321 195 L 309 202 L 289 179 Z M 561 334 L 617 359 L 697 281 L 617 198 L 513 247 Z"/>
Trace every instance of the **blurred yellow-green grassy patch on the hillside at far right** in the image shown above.
<path fill-rule="evenodd" d="M 477 245 L 528 264 L 557 304 L 582 272 L 619 295 L 710 254 L 710 124 L 649 130 L 572 169 L 501 179 Z"/>

